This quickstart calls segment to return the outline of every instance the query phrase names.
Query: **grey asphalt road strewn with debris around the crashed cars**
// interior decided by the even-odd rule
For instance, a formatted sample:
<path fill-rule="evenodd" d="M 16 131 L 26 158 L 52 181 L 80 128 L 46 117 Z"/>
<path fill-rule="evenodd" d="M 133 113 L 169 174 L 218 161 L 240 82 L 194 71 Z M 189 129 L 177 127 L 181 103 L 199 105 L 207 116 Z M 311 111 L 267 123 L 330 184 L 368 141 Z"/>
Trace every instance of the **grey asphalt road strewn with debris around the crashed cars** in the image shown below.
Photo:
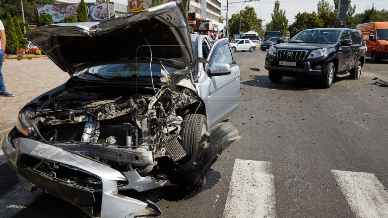
<path fill-rule="evenodd" d="M 242 138 L 220 156 L 204 182 L 187 193 L 160 188 L 127 194 L 156 202 L 160 217 L 223 217 L 225 205 L 261 214 L 241 217 L 358 218 L 365 217 L 363 208 L 377 211 L 370 217 L 388 217 L 388 88 L 372 80 L 388 81 L 388 61 L 375 64 L 368 58 L 360 80 L 337 79 L 330 89 L 319 89 L 294 78 L 271 83 L 264 69 L 266 53 L 234 53 L 242 89 L 231 122 Z M 232 176 L 238 171 L 235 159 L 249 160 L 253 168 L 245 165 L 243 173 Z M 247 186 L 249 178 L 262 186 L 252 193 L 231 192 Z M 255 193 L 264 195 L 258 199 Z M 0 217 L 85 217 L 77 207 L 41 191 L 20 190 L 6 164 L 0 164 L 0 206 Z"/>

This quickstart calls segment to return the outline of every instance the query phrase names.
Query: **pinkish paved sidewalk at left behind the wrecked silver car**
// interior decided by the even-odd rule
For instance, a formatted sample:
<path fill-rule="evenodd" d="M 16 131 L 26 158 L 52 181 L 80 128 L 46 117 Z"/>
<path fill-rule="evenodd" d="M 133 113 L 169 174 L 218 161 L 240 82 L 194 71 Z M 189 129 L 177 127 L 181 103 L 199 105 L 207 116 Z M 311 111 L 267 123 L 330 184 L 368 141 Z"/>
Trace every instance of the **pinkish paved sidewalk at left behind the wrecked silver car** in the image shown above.
<path fill-rule="evenodd" d="M 70 78 L 48 57 L 5 60 L 2 73 L 7 91 L 15 97 L 0 97 L 0 141 L 15 125 L 19 110 L 25 104 Z"/>

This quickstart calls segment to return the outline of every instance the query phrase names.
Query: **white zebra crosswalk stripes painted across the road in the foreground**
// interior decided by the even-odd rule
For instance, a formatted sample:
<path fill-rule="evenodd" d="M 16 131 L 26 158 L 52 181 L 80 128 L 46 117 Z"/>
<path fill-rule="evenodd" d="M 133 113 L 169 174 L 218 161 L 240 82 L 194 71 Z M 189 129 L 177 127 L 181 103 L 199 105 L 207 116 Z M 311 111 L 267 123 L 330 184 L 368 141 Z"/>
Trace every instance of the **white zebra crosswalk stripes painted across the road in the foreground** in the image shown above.
<path fill-rule="evenodd" d="M 279 211 L 276 209 L 274 178 L 277 175 L 273 171 L 271 162 L 236 159 L 223 217 L 276 218 Z M 355 218 L 388 217 L 388 191 L 374 174 L 340 170 L 331 170 L 329 173 L 335 178 Z M 14 185 L 11 190 L 0 195 L 0 217 L 17 214 L 42 193 L 41 190 L 28 193 L 18 184 Z M 139 217 L 146 217 L 151 213 L 144 210 L 139 214 Z"/>

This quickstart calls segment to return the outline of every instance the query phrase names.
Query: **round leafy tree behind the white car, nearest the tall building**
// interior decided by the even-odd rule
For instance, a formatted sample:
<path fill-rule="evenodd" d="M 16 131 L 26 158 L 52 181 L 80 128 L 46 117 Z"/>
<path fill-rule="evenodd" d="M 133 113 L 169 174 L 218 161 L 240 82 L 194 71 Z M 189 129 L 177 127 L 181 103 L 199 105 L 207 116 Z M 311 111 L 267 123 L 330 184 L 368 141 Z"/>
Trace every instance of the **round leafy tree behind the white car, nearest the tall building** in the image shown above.
<path fill-rule="evenodd" d="M 254 11 L 253 7 L 246 6 L 244 10 L 241 10 L 240 14 L 233 14 L 229 19 L 229 36 L 233 34 L 238 34 L 241 18 L 241 31 L 255 31 L 258 32 L 262 28 L 262 19 L 257 18 L 257 14 Z"/>

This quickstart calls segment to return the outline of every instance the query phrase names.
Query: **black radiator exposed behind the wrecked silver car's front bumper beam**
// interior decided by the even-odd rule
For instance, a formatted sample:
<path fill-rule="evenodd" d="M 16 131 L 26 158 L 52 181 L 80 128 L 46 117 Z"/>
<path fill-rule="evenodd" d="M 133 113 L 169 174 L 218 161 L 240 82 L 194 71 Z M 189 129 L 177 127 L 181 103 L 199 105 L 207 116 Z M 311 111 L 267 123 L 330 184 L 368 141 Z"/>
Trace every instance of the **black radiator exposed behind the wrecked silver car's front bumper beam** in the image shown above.
<path fill-rule="evenodd" d="M 45 126 L 40 131 L 48 133 L 56 129 L 57 141 L 81 141 L 82 134 L 84 132 L 85 122 L 69 123 L 61 125 Z M 109 136 L 113 136 L 116 139 L 116 144 L 124 146 L 126 130 L 120 125 L 108 125 L 100 123 L 100 135 L 97 142 L 105 143 Z"/>

